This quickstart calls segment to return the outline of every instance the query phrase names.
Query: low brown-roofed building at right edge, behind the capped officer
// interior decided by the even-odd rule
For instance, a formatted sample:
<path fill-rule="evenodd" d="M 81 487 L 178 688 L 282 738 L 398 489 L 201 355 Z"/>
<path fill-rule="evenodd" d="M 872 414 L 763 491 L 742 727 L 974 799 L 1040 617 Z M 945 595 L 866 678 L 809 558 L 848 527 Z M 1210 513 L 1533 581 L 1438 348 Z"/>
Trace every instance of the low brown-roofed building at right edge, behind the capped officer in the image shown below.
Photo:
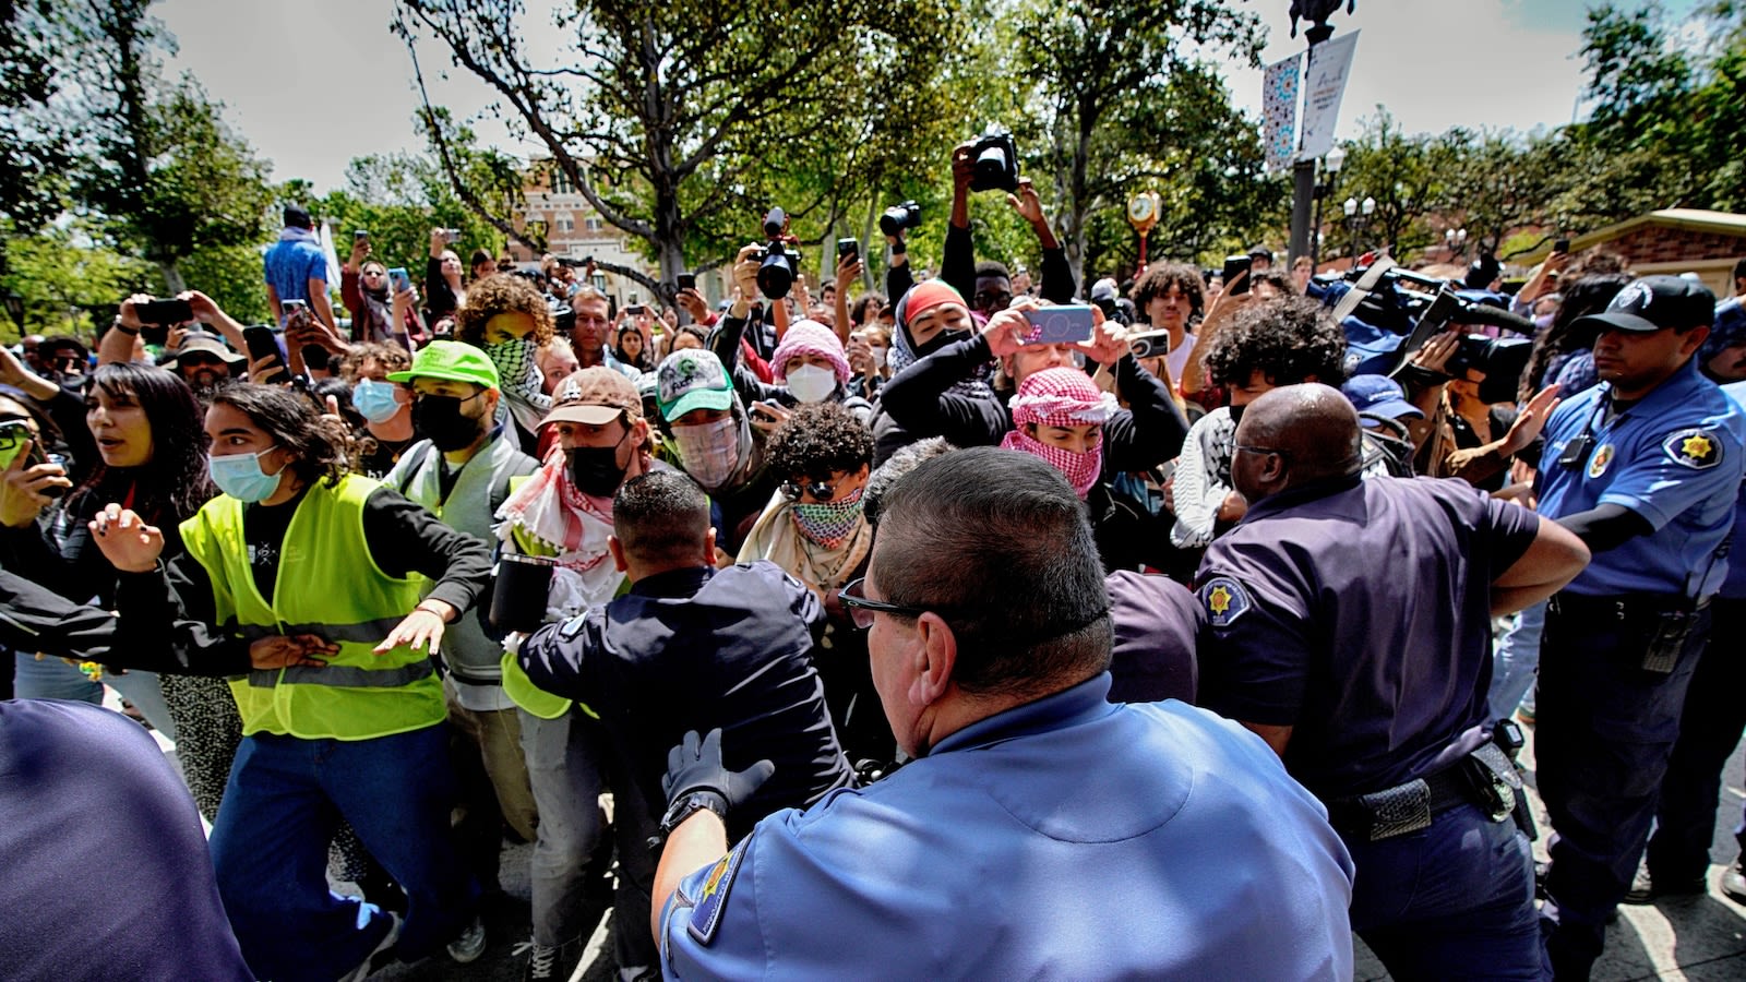
<path fill-rule="evenodd" d="M 1746 215 L 1664 208 L 1570 239 L 1570 252 L 1605 248 L 1626 257 L 1639 276 L 1695 273 L 1716 297 L 1734 294 L 1734 262 L 1746 257 Z M 1531 266 L 1550 246 L 1517 257 Z"/>

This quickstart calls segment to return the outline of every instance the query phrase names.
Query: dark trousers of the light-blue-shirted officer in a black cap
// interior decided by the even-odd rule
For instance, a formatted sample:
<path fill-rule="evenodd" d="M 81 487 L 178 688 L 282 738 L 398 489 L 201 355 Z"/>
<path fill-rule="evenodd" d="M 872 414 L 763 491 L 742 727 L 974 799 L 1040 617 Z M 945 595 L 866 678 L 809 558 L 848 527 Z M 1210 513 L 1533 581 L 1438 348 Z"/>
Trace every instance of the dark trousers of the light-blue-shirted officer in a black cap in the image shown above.
<path fill-rule="evenodd" d="M 1653 617 L 1566 596 L 1545 622 L 1535 706 L 1535 776 L 1556 832 L 1540 919 L 1557 977 L 1587 979 L 1643 858 L 1709 610 L 1673 671 L 1655 673 L 1643 669 Z"/>

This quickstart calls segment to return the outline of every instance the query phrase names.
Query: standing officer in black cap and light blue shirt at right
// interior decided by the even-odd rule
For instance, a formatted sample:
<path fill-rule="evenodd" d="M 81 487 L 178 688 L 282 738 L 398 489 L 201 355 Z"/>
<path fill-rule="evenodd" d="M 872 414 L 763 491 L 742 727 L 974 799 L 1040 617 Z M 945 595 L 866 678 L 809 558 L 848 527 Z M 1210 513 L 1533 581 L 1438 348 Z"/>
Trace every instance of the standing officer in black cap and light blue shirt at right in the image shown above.
<path fill-rule="evenodd" d="M 1598 335 L 1601 384 L 1545 430 L 1540 514 L 1594 550 L 1540 652 L 1535 758 L 1557 830 L 1540 916 L 1559 979 L 1587 979 L 1631 886 L 1727 575 L 1746 418 L 1692 356 L 1713 313 L 1697 283 L 1629 283 L 1575 322 Z"/>

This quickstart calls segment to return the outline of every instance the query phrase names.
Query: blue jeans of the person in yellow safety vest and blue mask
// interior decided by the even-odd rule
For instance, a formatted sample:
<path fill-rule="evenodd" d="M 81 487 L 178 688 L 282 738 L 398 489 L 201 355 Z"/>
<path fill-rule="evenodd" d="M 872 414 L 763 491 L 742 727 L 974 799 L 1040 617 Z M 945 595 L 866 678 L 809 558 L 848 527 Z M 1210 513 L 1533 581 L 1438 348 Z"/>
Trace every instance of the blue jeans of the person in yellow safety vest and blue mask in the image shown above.
<path fill-rule="evenodd" d="M 449 833 L 447 725 L 360 741 L 243 737 L 213 823 L 230 928 L 260 979 L 339 979 L 382 942 L 388 914 L 327 884 L 340 818 L 407 891 L 396 952 L 412 961 L 473 919 L 478 886 Z"/>

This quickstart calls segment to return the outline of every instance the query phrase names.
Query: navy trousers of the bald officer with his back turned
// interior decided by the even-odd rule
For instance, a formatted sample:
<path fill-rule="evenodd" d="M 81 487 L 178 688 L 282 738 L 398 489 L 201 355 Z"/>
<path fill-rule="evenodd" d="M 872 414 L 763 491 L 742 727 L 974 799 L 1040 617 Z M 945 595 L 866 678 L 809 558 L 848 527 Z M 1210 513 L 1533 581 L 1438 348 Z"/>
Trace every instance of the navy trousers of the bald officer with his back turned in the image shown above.
<path fill-rule="evenodd" d="M 1351 930 L 1395 979 L 1549 975 L 1533 912 L 1533 849 L 1475 806 L 1381 842 L 1344 837 L 1357 879 Z"/>

